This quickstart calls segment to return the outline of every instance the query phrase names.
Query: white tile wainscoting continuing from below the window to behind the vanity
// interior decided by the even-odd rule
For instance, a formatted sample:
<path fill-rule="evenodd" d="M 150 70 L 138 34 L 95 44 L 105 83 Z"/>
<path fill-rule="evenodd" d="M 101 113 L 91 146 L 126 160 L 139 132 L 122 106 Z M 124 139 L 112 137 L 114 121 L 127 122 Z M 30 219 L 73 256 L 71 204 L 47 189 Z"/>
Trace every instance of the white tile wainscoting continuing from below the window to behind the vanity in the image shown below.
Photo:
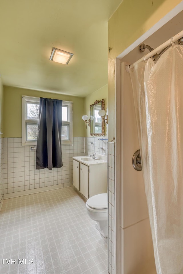
<path fill-rule="evenodd" d="M 40 191 L 44 191 L 71 186 L 73 156 L 84 156 L 89 151 L 107 156 L 107 139 L 99 139 L 99 137 L 73 137 L 73 144 L 62 145 L 63 167 L 53 170 L 35 169 L 36 150 L 31 150 L 31 147 L 35 146 L 22 146 L 22 138 L 0 139 L 0 200 L 3 194 L 6 198 L 10 198 L 15 194 L 11 196 L 7 194 L 21 192 L 21 195 L 25 195 L 39 192 L 40 188 Z"/>

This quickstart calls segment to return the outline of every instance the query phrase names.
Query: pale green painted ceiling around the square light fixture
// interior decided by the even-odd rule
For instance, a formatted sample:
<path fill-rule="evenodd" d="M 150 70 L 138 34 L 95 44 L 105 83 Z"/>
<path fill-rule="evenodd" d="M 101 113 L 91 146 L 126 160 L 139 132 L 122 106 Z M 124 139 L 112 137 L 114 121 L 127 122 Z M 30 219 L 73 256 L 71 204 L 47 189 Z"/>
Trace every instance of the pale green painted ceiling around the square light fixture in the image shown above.
<path fill-rule="evenodd" d="M 3 85 L 87 96 L 108 82 L 108 19 L 122 0 L 1 0 Z M 68 65 L 52 48 L 73 53 Z"/>

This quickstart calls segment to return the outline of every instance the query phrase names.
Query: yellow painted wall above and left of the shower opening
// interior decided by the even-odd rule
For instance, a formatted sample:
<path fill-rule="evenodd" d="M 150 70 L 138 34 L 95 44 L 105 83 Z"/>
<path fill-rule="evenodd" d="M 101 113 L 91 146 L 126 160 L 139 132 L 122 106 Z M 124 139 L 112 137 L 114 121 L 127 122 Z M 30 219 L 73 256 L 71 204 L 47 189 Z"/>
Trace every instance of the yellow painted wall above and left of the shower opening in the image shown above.
<path fill-rule="evenodd" d="M 108 22 L 109 139 L 115 135 L 115 59 L 170 12 L 180 0 L 123 0 Z"/>

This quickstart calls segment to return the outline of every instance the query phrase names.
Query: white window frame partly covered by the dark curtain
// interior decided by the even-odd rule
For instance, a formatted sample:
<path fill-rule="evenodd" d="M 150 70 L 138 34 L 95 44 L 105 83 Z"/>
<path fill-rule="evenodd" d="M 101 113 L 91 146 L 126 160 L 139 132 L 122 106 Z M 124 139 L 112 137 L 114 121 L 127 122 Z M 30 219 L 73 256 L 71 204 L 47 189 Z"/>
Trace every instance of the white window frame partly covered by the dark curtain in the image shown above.
<path fill-rule="evenodd" d="M 36 146 L 36 141 L 26 140 L 26 124 L 37 124 L 39 120 L 27 119 L 27 103 L 39 104 L 39 97 L 22 95 L 22 146 Z M 62 121 L 62 124 L 69 126 L 69 139 L 61 140 L 62 144 L 72 144 L 73 139 L 73 123 L 72 123 L 72 101 L 62 101 L 63 106 L 67 106 L 67 121 Z"/>

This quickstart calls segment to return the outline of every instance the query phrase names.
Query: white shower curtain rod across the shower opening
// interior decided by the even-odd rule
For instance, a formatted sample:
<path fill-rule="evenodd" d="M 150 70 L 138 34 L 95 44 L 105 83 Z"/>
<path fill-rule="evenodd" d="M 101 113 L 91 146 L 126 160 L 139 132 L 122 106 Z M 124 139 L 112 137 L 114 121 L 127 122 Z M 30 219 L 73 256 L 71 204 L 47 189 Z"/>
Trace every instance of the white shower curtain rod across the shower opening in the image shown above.
<path fill-rule="evenodd" d="M 158 53 L 158 51 L 162 51 L 162 49 L 168 47 L 169 45 L 171 45 L 172 43 L 174 43 L 175 41 L 177 41 L 178 39 L 180 39 L 181 37 L 183 37 L 183 30 L 180 31 L 179 33 L 177 33 L 174 37 L 170 38 L 169 40 L 167 40 L 164 44 L 160 45 L 159 47 L 157 47 L 156 49 L 154 49 L 153 51 L 151 51 L 150 53 L 144 55 L 144 57 L 140 58 L 138 61 L 136 61 L 135 63 L 129 65 L 126 65 L 126 71 L 129 72 L 130 69 L 134 68 L 134 66 L 142 61 L 148 60 L 150 57 L 152 57 L 153 55 L 155 55 L 156 53 Z"/>

